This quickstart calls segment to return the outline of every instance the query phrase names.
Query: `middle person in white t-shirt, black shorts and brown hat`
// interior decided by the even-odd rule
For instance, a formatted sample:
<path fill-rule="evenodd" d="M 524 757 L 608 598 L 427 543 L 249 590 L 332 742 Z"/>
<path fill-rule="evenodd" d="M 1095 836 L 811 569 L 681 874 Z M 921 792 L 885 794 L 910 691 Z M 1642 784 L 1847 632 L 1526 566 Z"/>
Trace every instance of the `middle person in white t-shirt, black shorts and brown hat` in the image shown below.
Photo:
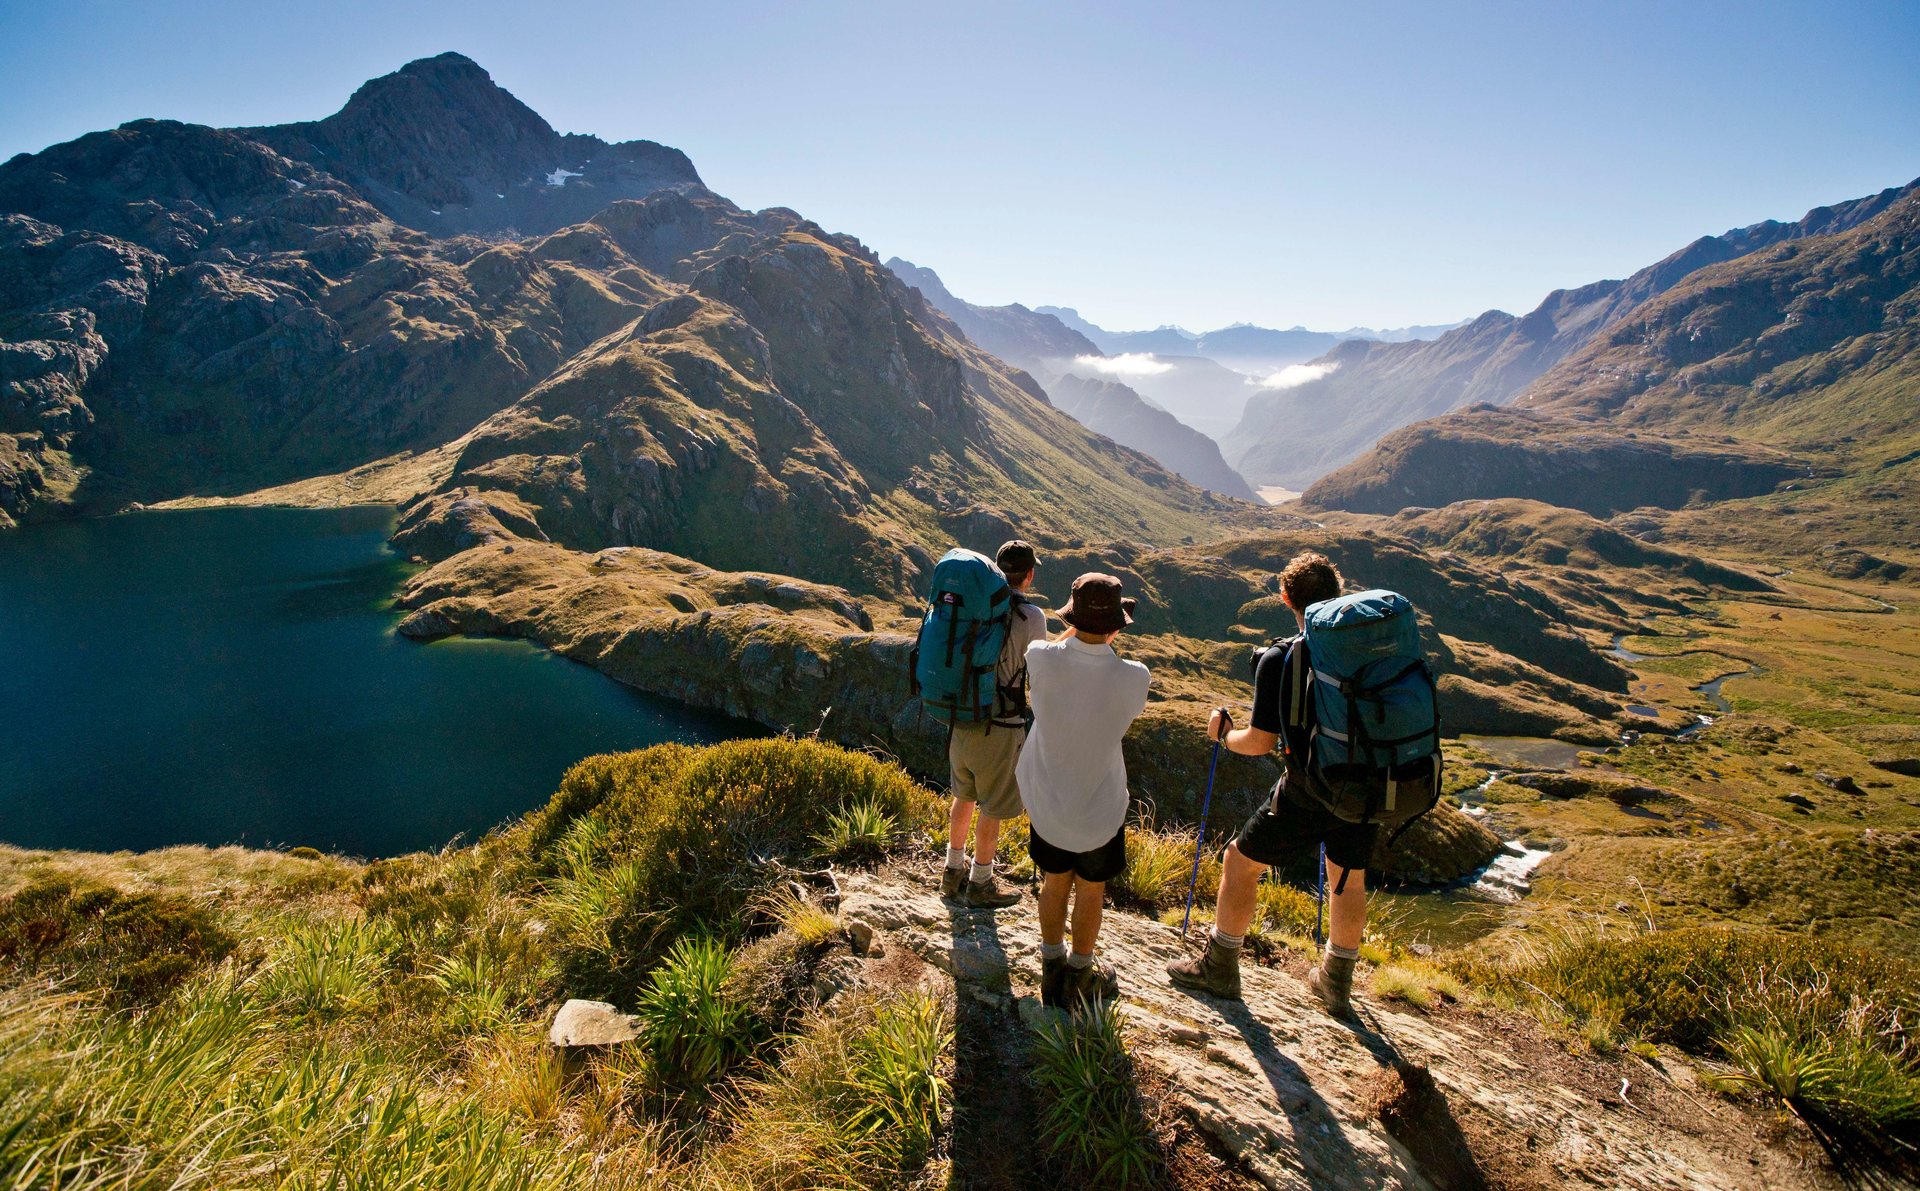
<path fill-rule="evenodd" d="M 1041 870 L 1041 1001 L 1071 1009 L 1119 993 L 1094 962 L 1106 882 L 1127 864 L 1127 763 L 1119 740 L 1146 709 L 1146 667 L 1114 653 L 1133 599 L 1112 574 L 1073 580 L 1068 630 L 1027 647 L 1033 732 L 1020 753 L 1027 849 Z M 1068 951 L 1068 903 L 1073 949 Z"/>

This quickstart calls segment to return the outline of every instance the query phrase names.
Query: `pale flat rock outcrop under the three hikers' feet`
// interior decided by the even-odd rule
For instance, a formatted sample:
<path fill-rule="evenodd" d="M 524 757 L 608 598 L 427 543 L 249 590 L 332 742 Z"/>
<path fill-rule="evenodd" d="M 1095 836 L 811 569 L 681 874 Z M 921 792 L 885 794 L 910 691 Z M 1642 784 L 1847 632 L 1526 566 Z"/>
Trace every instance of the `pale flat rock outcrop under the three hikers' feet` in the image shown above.
<path fill-rule="evenodd" d="M 1021 1078 L 1039 1003 L 1033 901 L 958 911 L 925 878 L 856 874 L 841 916 L 881 943 L 845 987 L 950 987 L 962 1062 Z M 1686 1062 L 1576 1057 L 1498 1010 L 1419 1012 L 1357 993 L 1359 1020 L 1327 1016 L 1300 960 L 1242 966 L 1244 1003 L 1175 989 L 1175 928 L 1108 912 L 1098 955 L 1119 972 L 1135 1068 L 1160 1112 L 1188 1122 L 1221 1185 L 1308 1187 L 1822 1187 L 1795 1155 L 1755 1145 L 1753 1124 L 1697 1091 Z M 920 968 L 904 966 L 900 955 Z M 1025 1030 L 1021 1030 L 1025 1026 Z M 970 1083 L 972 1087 L 972 1083 Z M 985 1112 L 973 1105 L 970 1112 Z M 1031 1120 L 1000 1145 L 1033 1153 Z"/>

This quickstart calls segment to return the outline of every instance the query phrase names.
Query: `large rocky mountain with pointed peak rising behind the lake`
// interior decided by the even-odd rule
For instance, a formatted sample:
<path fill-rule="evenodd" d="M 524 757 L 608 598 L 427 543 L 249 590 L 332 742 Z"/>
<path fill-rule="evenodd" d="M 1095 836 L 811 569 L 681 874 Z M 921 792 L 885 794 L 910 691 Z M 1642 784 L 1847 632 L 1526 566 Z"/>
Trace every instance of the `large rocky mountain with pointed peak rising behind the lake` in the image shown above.
<path fill-rule="evenodd" d="M 457 54 L 313 123 L 0 165 L 0 524 L 392 474 L 411 553 L 511 530 L 860 592 L 952 540 L 1173 544 L 1238 507 L 854 238 L 561 136 Z"/>

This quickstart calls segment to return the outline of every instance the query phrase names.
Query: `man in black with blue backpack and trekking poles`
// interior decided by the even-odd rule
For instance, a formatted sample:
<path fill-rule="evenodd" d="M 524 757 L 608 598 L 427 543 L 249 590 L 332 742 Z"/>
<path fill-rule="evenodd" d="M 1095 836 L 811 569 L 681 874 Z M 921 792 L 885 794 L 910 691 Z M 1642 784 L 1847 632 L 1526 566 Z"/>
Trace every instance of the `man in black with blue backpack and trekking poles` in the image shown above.
<path fill-rule="evenodd" d="M 1225 707 L 1208 717 L 1215 759 L 1221 745 L 1248 757 L 1283 747 L 1286 772 L 1227 845 L 1208 945 L 1167 964 L 1179 987 L 1240 999 L 1240 945 L 1260 878 L 1317 845 L 1332 920 L 1308 985 L 1329 1012 L 1352 1016 L 1367 864 L 1380 830 L 1392 830 L 1392 841 L 1440 801 L 1438 693 L 1413 605 L 1379 590 L 1342 597 L 1340 588 L 1325 555 L 1296 555 L 1281 572 L 1281 599 L 1300 632 L 1256 655 L 1244 728 Z M 1212 797 L 1212 778 L 1208 790 Z"/>

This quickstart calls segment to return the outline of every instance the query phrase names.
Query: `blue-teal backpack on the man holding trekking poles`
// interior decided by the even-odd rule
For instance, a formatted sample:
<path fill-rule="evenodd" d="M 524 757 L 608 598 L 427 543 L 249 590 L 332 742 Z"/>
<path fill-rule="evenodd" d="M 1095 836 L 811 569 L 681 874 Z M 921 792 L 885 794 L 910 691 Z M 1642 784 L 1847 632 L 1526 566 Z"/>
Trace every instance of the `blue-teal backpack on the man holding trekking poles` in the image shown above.
<path fill-rule="evenodd" d="M 1283 692 L 1288 734 L 1306 745 L 1298 778 L 1338 818 L 1396 828 L 1392 843 L 1440 801 L 1440 692 L 1413 605 L 1357 592 L 1304 620 Z"/>

